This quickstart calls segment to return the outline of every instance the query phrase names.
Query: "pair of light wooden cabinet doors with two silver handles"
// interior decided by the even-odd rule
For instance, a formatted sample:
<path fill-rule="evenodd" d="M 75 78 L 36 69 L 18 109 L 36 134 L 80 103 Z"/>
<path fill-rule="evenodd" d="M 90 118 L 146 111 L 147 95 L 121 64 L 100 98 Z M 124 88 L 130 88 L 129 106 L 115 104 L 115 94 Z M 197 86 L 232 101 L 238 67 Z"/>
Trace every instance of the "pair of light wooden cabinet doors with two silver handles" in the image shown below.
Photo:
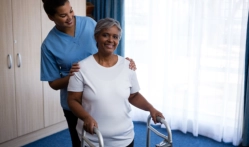
<path fill-rule="evenodd" d="M 39 4 L 33 0 L 1 0 L 0 142 L 44 127 L 42 83 L 38 80 Z"/>

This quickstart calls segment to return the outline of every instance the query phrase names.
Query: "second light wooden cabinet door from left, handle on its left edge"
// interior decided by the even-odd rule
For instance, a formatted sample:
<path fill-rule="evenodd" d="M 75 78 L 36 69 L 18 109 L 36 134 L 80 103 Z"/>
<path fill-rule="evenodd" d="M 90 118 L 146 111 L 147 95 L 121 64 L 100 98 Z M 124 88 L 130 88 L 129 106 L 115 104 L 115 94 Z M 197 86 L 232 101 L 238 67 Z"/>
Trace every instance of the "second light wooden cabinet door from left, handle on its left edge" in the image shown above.
<path fill-rule="evenodd" d="M 44 127 L 41 1 L 12 0 L 18 136 Z"/>

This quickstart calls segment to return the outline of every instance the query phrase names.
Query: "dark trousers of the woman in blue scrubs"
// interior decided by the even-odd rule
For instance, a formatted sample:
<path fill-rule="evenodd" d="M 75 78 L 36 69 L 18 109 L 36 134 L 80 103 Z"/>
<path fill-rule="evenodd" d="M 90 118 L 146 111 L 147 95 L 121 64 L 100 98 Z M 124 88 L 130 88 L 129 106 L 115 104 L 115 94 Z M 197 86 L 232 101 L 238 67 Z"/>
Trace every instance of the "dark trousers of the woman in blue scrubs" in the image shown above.
<path fill-rule="evenodd" d="M 76 130 L 78 118 L 71 111 L 63 109 L 63 112 L 67 120 L 67 125 L 68 125 L 68 129 L 69 129 L 71 141 L 72 141 L 72 147 L 80 147 L 81 142 L 78 136 L 78 132 Z"/>

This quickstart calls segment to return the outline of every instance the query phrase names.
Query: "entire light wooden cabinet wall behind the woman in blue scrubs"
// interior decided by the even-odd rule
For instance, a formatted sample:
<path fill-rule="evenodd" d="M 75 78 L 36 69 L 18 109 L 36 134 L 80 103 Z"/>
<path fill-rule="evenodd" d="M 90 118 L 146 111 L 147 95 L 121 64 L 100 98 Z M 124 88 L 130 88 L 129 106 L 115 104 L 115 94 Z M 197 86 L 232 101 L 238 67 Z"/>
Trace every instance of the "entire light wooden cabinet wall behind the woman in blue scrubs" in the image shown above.
<path fill-rule="evenodd" d="M 85 0 L 70 0 L 85 15 Z M 40 81 L 41 43 L 54 23 L 41 0 L 0 1 L 0 147 L 22 146 L 67 128 L 59 91 Z"/>

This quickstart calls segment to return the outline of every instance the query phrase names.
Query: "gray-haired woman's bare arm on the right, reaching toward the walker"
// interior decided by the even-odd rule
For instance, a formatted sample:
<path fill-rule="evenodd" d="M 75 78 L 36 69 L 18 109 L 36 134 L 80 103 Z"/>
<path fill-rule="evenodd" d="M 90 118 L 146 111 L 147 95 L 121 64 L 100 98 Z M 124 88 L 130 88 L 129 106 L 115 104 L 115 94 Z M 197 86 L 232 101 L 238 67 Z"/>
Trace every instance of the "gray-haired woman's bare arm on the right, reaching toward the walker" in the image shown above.
<path fill-rule="evenodd" d="M 154 123 L 158 123 L 157 116 L 164 118 L 163 114 L 156 110 L 139 92 L 131 94 L 129 102 L 137 108 L 149 111 Z"/>

